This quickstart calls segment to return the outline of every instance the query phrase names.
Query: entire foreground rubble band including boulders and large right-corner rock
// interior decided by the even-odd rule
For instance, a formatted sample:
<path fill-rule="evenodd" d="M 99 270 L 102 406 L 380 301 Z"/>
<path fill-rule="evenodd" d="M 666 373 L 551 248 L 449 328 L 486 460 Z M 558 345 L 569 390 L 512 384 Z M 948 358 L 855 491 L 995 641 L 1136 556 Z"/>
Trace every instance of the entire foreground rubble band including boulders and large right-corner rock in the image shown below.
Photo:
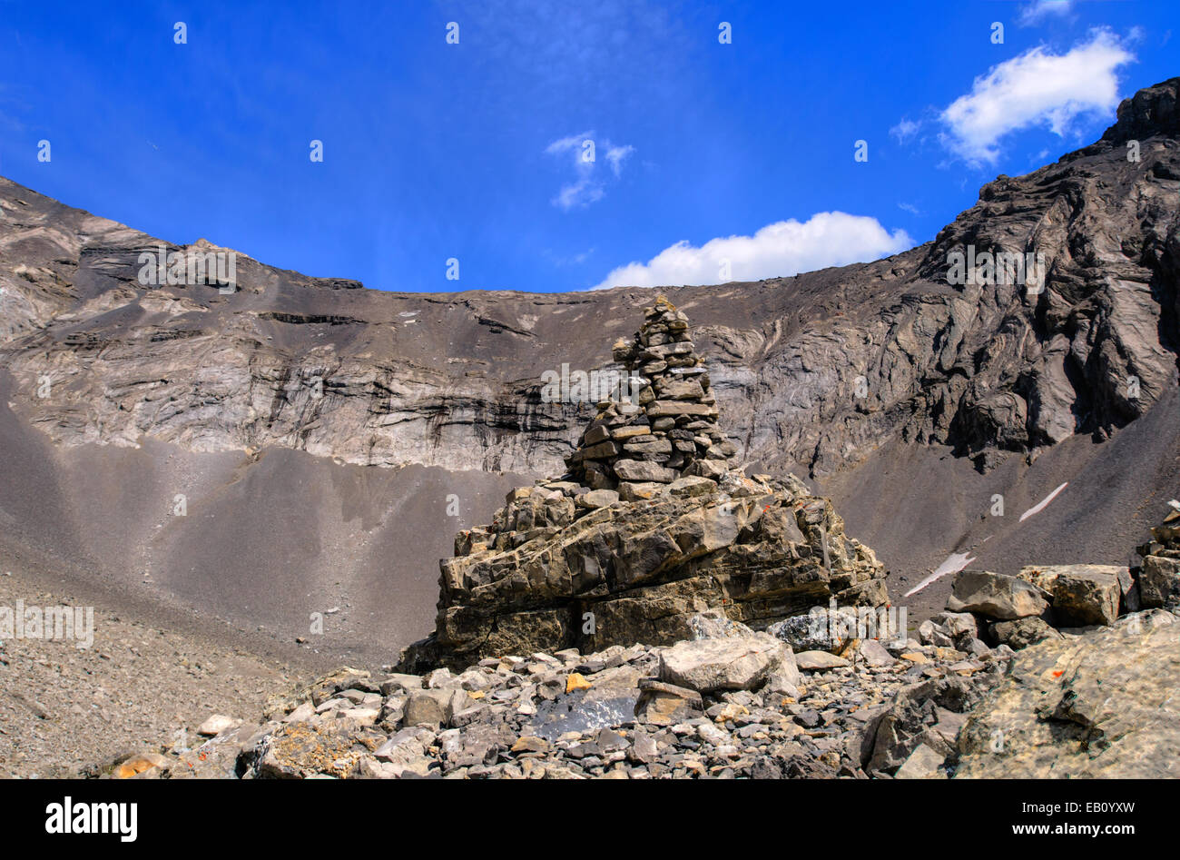
<path fill-rule="evenodd" d="M 1175 521 L 1153 530 L 1145 562 L 1176 558 Z M 765 631 L 722 607 L 666 646 L 341 669 L 270 699 L 261 722 L 215 715 L 197 749 L 146 750 L 104 775 L 1175 776 L 1180 607 L 1083 627 L 1041 617 L 1104 619 L 1142 582 L 1139 567 L 971 572 L 950 602 L 975 611 L 926 619 L 917 639 L 892 607 L 813 606 Z"/>

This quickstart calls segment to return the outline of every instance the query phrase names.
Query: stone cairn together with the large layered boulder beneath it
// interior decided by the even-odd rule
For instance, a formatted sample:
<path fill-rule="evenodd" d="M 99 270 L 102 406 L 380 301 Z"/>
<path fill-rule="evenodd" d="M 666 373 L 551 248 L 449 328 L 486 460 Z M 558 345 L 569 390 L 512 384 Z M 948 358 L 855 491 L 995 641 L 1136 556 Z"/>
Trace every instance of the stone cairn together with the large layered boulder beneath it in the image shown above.
<path fill-rule="evenodd" d="M 691 372 L 691 341 L 670 340 L 675 352 L 651 344 L 668 322 L 687 332 L 687 319 L 662 297 L 645 315 L 620 347 L 651 374 L 637 378 L 638 403 L 602 402 L 570 474 L 511 491 L 490 526 L 457 536 L 455 556 L 441 562 L 435 632 L 404 652 L 402 671 L 670 644 L 708 608 L 765 627 L 830 598 L 887 600 L 884 567 L 844 534 L 831 502 L 796 478 L 729 468 L 704 419 L 717 410 L 702 403 L 708 377 Z M 663 376 L 673 354 L 687 382 Z"/>

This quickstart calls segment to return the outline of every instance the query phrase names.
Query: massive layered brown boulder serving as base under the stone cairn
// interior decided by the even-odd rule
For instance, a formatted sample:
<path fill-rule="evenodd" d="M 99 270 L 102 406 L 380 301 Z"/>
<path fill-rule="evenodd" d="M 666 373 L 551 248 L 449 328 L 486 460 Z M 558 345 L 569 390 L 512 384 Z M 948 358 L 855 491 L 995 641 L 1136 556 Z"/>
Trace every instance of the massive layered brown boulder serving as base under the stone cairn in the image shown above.
<path fill-rule="evenodd" d="M 605 508 L 578 506 L 584 488 L 562 483 L 514 490 L 491 526 L 457 536 L 433 640 L 407 666 L 668 644 L 691 638 L 689 619 L 710 607 L 765 627 L 831 597 L 886 601 L 872 549 L 796 481 L 732 473 L 704 495 Z"/>

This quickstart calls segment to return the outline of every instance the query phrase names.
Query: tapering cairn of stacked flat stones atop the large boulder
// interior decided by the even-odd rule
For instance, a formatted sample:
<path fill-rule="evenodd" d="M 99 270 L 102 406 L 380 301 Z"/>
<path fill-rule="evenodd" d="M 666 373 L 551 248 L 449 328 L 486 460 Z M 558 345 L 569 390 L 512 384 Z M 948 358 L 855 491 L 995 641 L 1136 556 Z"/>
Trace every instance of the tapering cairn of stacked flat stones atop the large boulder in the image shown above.
<path fill-rule="evenodd" d="M 594 489 L 617 489 L 627 501 L 649 499 L 681 477 L 717 480 L 732 469 L 738 447 L 717 424 L 709 374 L 688 334 L 688 317 L 663 295 L 644 311 L 631 343 L 614 358 L 627 367 L 632 403 L 603 400 L 566 460 L 571 476 Z"/>

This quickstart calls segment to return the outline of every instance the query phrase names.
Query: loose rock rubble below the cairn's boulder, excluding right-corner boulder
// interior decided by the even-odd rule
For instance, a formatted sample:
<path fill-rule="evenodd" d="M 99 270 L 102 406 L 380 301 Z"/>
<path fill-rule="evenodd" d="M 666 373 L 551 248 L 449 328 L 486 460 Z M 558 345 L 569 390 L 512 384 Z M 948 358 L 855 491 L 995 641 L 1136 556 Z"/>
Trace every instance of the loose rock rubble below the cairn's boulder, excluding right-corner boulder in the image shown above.
<path fill-rule="evenodd" d="M 811 671 L 720 612 L 693 625 L 702 638 L 669 647 L 505 656 L 458 675 L 343 669 L 138 776 L 889 776 L 952 744 L 1011 654 L 861 640 Z"/>

